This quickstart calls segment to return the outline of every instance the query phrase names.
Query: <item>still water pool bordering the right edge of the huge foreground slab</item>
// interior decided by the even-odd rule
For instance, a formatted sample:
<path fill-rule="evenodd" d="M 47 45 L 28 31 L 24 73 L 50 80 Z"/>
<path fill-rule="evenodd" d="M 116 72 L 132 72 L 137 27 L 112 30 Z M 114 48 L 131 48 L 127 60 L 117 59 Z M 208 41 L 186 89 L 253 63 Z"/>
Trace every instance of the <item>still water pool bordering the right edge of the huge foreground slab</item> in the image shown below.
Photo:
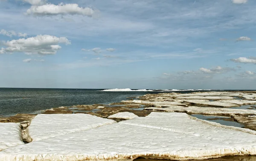
<path fill-rule="evenodd" d="M 201 120 L 212 121 L 226 126 L 244 127 L 243 124 L 239 124 L 230 117 L 222 116 L 207 116 L 207 115 L 191 115 Z"/>

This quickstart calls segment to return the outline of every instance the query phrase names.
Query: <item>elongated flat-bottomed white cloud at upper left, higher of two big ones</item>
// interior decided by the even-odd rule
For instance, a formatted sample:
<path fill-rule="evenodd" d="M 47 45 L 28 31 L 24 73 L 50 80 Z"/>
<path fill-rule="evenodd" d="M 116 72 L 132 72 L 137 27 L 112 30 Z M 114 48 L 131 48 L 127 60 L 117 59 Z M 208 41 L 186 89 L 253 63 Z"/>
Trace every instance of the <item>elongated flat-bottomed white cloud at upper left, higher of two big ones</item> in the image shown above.
<path fill-rule="evenodd" d="M 42 6 L 31 6 L 30 9 L 26 11 L 26 14 L 34 15 L 64 15 L 64 14 L 80 14 L 83 16 L 92 17 L 95 11 L 89 7 L 79 7 L 78 4 L 45 4 Z"/>

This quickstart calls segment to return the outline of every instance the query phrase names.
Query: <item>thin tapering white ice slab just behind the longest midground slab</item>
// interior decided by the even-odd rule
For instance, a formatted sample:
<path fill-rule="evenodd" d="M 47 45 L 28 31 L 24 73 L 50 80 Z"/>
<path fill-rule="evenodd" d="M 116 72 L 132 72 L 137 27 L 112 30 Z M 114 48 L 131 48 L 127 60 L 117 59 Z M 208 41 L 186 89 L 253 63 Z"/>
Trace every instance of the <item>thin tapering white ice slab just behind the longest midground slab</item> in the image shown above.
<path fill-rule="evenodd" d="M 196 104 L 196 105 L 202 105 L 202 106 L 219 106 L 219 107 L 235 107 L 235 106 L 239 106 L 237 104 L 227 103 L 227 102 L 220 102 L 220 101 L 186 100 L 185 102 L 191 103 L 191 104 Z"/>

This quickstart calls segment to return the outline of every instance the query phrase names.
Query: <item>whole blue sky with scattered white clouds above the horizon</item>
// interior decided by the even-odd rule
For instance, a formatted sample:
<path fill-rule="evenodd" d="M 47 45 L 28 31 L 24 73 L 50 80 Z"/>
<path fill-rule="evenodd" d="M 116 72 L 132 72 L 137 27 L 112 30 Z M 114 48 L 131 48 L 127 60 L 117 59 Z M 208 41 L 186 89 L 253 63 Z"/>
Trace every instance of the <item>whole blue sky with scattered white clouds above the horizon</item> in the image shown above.
<path fill-rule="evenodd" d="M 256 89 L 255 0 L 0 0 L 0 87 Z"/>

